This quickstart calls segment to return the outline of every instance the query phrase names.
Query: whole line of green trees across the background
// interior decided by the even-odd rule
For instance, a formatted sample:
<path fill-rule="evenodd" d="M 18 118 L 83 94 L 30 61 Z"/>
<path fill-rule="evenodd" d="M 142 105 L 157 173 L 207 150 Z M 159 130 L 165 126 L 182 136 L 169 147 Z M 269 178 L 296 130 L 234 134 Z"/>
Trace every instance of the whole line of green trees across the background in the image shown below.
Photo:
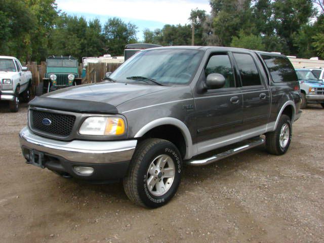
<path fill-rule="evenodd" d="M 192 9 L 188 24 L 144 29 L 143 42 L 162 46 L 235 46 L 324 58 L 323 0 L 210 0 L 211 13 Z M 86 20 L 61 13 L 55 0 L 0 0 L 0 54 L 22 61 L 50 55 L 123 55 L 138 28 L 119 18 Z"/>

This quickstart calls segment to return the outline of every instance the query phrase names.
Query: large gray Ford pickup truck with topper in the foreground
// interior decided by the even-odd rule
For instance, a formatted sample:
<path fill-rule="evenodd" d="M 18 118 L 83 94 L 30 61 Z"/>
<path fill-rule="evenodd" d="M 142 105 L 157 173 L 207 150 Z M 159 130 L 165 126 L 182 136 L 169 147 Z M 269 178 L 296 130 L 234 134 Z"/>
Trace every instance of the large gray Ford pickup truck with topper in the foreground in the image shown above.
<path fill-rule="evenodd" d="M 176 193 L 183 164 L 264 142 L 284 154 L 299 108 L 285 56 L 163 47 L 140 51 L 103 83 L 36 97 L 19 137 L 28 164 L 92 182 L 123 179 L 134 203 L 156 208 Z"/>

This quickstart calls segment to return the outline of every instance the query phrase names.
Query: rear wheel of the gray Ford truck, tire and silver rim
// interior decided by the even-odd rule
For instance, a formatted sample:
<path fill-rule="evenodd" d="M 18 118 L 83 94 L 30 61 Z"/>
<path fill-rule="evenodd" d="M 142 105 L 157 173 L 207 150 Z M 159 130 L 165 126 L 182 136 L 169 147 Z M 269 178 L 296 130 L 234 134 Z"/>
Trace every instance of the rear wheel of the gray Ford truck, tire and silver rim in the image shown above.
<path fill-rule="evenodd" d="M 285 133 L 282 133 L 283 131 Z M 287 152 L 292 139 L 292 123 L 288 115 L 281 115 L 275 131 L 266 134 L 266 148 L 271 154 L 281 155 Z"/>

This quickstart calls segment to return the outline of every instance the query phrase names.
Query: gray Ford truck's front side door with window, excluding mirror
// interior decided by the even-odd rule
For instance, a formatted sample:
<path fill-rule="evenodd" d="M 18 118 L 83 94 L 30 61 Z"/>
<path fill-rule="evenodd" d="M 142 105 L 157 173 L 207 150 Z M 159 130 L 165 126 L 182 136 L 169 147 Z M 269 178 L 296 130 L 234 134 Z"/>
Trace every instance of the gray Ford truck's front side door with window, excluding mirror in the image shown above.
<path fill-rule="evenodd" d="M 230 53 L 212 53 L 201 73 L 199 82 L 206 82 L 211 73 L 220 73 L 225 77 L 225 85 L 202 93 L 195 92 L 196 142 L 237 133 L 241 129 L 243 99 L 232 63 Z"/>

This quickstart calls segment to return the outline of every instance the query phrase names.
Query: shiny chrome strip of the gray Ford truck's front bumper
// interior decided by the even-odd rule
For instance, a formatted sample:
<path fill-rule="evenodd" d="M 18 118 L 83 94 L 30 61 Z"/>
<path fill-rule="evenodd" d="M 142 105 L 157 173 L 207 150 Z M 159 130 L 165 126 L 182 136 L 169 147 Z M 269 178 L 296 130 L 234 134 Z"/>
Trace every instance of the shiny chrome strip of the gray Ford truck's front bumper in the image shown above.
<path fill-rule="evenodd" d="M 23 153 L 27 148 L 87 164 L 130 161 L 137 144 L 137 140 L 64 142 L 35 135 L 27 127 L 20 131 L 19 140 Z"/>

